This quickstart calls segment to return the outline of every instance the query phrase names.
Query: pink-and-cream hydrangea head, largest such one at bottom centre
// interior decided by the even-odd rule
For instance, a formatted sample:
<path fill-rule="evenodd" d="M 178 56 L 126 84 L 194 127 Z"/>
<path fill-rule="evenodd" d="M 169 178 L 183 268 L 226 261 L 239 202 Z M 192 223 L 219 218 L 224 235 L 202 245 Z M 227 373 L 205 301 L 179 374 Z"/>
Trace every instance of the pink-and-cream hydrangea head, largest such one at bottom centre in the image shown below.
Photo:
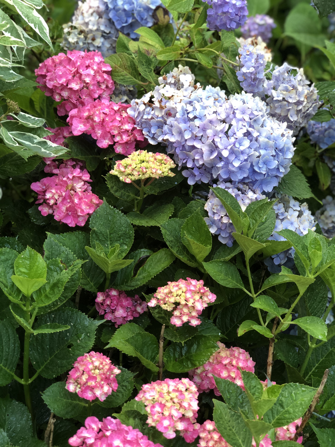
<path fill-rule="evenodd" d="M 145 384 L 135 399 L 146 406 L 149 426 L 156 427 L 167 439 L 174 438 L 175 431 L 180 430 L 185 440 L 192 442 L 197 437 L 197 433 L 193 437 L 192 432 L 199 426 L 193 425 L 199 409 L 197 397 L 197 387 L 183 378 Z"/>

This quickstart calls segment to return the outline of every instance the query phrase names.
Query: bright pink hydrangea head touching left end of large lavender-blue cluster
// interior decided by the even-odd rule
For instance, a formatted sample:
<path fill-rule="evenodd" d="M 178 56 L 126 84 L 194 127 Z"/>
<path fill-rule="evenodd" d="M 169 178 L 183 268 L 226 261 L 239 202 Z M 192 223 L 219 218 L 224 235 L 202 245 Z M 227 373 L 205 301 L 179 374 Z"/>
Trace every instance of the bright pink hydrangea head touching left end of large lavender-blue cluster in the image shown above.
<path fill-rule="evenodd" d="M 69 112 L 67 122 L 73 135 L 92 135 L 100 148 L 114 145 L 114 150 L 129 155 L 135 150 L 135 143 L 145 146 L 144 135 L 135 127 L 135 120 L 128 115 L 129 104 L 116 104 L 107 98 L 96 99 L 85 105 L 78 105 Z"/>

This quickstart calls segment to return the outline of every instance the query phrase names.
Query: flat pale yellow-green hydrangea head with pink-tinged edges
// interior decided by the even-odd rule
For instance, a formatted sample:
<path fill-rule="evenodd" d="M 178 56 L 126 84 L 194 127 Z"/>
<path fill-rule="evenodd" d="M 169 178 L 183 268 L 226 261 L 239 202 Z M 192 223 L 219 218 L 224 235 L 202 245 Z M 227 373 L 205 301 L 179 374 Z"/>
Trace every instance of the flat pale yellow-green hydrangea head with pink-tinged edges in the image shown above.
<path fill-rule="evenodd" d="M 117 161 L 110 173 L 117 175 L 125 183 L 131 183 L 146 178 L 173 177 L 176 174 L 170 169 L 175 166 L 171 158 L 165 154 L 139 150 Z"/>

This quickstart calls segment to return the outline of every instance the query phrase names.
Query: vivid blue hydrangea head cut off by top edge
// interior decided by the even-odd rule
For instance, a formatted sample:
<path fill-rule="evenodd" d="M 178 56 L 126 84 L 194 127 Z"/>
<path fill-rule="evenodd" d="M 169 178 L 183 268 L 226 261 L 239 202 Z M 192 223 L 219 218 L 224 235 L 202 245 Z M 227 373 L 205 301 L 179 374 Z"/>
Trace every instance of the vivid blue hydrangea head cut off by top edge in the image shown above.
<path fill-rule="evenodd" d="M 138 38 L 134 31 L 140 26 L 150 28 L 154 25 L 153 13 L 157 6 L 163 6 L 160 0 L 104 0 L 107 2 L 109 17 L 123 34 Z"/>

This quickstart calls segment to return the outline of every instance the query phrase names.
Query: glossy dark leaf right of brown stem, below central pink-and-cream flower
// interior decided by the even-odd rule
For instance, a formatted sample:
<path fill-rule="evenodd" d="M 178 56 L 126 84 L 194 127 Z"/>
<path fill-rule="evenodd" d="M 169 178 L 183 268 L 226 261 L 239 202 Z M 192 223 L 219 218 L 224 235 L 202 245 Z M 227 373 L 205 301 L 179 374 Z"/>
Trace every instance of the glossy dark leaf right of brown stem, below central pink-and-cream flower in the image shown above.
<path fill-rule="evenodd" d="M 164 352 L 164 364 L 167 371 L 187 372 L 203 365 L 218 350 L 211 337 L 195 335 L 184 344 L 172 343 Z"/>

